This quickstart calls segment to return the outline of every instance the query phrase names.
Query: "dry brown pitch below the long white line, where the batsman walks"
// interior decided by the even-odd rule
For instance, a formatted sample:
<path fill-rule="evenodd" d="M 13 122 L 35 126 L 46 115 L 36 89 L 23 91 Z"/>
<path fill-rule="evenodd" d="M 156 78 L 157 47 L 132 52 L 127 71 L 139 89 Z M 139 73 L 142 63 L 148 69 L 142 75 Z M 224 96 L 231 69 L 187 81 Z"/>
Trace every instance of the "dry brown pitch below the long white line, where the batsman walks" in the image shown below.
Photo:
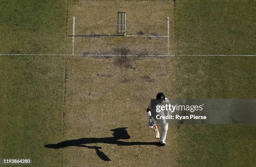
<path fill-rule="evenodd" d="M 158 147 L 156 143 L 152 144 L 158 140 L 154 138 L 153 130 L 147 127 L 145 115 L 146 106 L 155 92 L 173 92 L 172 58 L 129 58 L 130 68 L 122 67 L 116 58 L 71 57 L 67 63 L 64 140 L 113 137 L 110 129 L 120 127 L 128 127 L 131 138 L 120 139 L 128 146 L 84 143 L 102 147 L 100 150 L 111 159 L 109 162 L 102 161 L 95 149 L 67 147 L 63 150 L 64 166 L 174 164 L 173 155 L 178 154 L 176 130 L 171 126 L 167 136 L 169 145 Z M 166 82 L 159 82 L 163 80 Z M 167 93 L 166 96 L 173 95 Z"/>

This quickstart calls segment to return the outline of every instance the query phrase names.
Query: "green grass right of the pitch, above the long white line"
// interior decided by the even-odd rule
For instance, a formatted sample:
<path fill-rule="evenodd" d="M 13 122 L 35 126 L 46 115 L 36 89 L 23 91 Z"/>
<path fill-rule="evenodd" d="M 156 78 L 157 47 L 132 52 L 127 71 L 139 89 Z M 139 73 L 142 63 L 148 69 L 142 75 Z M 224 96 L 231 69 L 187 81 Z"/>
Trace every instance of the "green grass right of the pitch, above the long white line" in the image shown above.
<path fill-rule="evenodd" d="M 255 2 L 175 1 L 178 54 L 255 54 Z"/>

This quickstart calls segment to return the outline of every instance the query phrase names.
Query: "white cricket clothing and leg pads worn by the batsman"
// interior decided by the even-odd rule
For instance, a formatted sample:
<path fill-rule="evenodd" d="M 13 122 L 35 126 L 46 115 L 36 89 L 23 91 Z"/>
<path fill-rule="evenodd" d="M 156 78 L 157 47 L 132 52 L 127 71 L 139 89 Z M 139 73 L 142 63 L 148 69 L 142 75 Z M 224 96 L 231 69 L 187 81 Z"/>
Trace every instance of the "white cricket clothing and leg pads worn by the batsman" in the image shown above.
<path fill-rule="evenodd" d="M 164 105 L 165 106 L 166 104 L 168 104 L 168 105 L 170 104 L 170 101 L 167 98 L 165 98 L 164 101 L 162 101 L 160 104 L 152 104 L 154 106 L 151 106 L 151 101 L 148 104 L 148 108 L 151 110 L 152 117 L 155 119 L 156 123 L 160 124 L 160 126 L 161 126 L 159 142 L 165 141 L 165 139 L 166 139 L 166 134 L 168 131 L 168 122 L 166 122 L 166 119 L 156 119 L 156 115 L 166 116 L 167 114 L 168 115 L 172 114 L 172 112 L 169 110 L 168 111 L 161 110 L 160 112 L 156 112 L 156 105 Z M 165 111 L 166 115 L 164 114 L 164 111 Z"/>

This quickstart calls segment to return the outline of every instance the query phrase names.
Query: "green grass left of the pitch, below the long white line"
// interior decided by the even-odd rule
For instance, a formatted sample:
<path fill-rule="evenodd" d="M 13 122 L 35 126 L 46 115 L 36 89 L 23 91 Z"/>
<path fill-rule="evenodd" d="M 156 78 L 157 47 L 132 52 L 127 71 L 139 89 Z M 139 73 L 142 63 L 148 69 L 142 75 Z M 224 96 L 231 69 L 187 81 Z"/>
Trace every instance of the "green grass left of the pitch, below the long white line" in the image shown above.
<path fill-rule="evenodd" d="M 32 166 L 58 166 L 62 138 L 62 57 L 0 57 L 0 157 L 31 158 Z"/>

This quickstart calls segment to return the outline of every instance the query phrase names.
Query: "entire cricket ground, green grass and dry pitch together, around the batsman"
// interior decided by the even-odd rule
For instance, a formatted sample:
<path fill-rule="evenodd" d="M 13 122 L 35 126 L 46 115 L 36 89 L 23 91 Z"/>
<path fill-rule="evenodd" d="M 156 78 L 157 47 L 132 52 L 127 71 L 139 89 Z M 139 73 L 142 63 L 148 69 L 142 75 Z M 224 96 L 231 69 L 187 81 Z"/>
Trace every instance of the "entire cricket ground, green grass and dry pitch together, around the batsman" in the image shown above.
<path fill-rule="evenodd" d="M 125 68 L 116 57 L 66 56 L 72 50 L 72 37 L 66 36 L 67 9 L 70 35 L 73 15 L 81 20 L 77 33 L 90 33 L 91 28 L 109 33 L 111 27 L 115 32 L 115 25 L 108 26 L 115 23 L 116 18 L 110 17 L 116 16 L 115 8 L 133 12 L 129 26 L 134 34 L 166 32 L 161 24 L 166 20 L 157 18 L 169 15 L 171 54 L 255 55 L 255 2 L 150 0 L 125 5 L 114 0 L 0 0 L 0 4 L 0 54 L 63 54 L 0 56 L 0 158 L 31 158 L 32 165 L 27 166 L 35 167 L 256 166 L 255 124 L 170 125 L 167 145 L 158 147 L 152 143 L 158 140 L 147 127 L 146 116 L 148 102 L 159 91 L 169 99 L 255 99 L 255 57 L 135 56 L 127 58 Z M 102 5 L 108 17 L 97 15 Z M 138 9 L 132 10 L 133 5 Z M 164 10 L 153 12 L 162 6 Z M 86 17 L 83 7 L 92 18 Z M 137 24 L 143 21 L 136 17 L 143 14 L 151 19 L 140 27 Z M 96 18 L 101 20 L 91 25 L 82 21 Z M 75 53 L 110 54 L 113 47 L 127 46 L 139 55 L 166 54 L 166 39 L 141 41 L 79 37 Z M 44 147 L 73 139 L 102 140 L 113 137 L 110 129 L 120 127 L 128 127 L 131 138 L 120 139 L 119 146 Z M 95 147 L 101 147 L 111 161 L 102 160 Z"/>

